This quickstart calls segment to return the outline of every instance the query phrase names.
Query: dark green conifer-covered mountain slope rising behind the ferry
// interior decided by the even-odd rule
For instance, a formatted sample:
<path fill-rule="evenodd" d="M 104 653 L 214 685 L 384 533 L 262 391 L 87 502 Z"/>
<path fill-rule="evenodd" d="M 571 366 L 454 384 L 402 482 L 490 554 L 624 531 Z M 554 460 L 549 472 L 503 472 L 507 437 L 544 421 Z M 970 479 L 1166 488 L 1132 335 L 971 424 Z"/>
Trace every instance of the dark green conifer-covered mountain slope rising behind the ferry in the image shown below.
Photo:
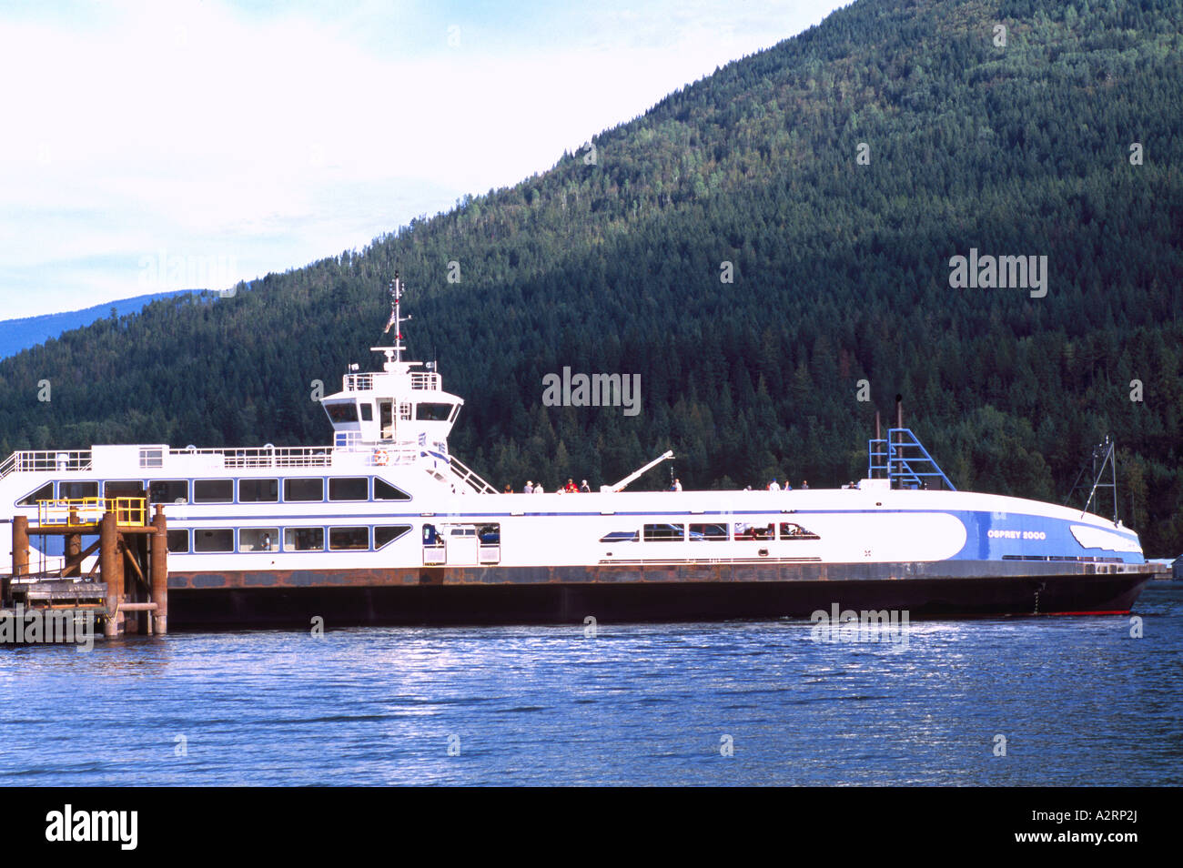
<path fill-rule="evenodd" d="M 1183 0 L 859 0 L 362 253 L 6 359 L 0 448 L 328 442 L 312 381 L 375 361 L 397 268 L 498 487 L 665 448 L 687 486 L 835 485 L 901 393 L 962 488 L 1060 500 L 1113 434 L 1120 517 L 1176 555 L 1181 30 Z M 1046 255 L 1047 294 L 950 286 L 971 248 Z M 640 414 L 543 406 L 564 365 L 640 374 Z"/>

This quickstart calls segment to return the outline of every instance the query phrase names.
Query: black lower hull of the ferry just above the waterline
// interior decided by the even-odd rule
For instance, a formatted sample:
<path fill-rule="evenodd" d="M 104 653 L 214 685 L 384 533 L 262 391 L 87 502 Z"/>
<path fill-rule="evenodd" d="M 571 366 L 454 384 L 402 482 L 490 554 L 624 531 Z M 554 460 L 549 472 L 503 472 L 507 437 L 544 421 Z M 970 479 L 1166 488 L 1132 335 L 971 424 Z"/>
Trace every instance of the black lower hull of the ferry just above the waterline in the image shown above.
<path fill-rule="evenodd" d="M 897 610 L 912 620 L 1121 614 L 1149 574 L 870 581 L 563 582 L 169 590 L 169 629 L 350 626 L 582 624 L 808 618 Z"/>

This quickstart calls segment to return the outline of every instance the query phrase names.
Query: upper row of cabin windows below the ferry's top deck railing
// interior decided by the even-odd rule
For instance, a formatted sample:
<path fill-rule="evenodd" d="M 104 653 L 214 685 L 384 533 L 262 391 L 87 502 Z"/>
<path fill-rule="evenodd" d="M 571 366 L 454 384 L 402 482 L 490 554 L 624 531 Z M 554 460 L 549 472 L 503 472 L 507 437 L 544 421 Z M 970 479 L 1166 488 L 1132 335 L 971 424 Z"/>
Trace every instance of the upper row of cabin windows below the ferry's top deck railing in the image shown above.
<path fill-rule="evenodd" d="M 373 481 L 373 488 L 371 488 Z M 235 500 L 235 482 L 238 499 Z M 148 481 L 148 499 L 154 504 L 276 504 L 279 503 L 278 479 L 153 479 Z M 38 500 L 53 500 L 54 485 L 60 500 L 103 497 L 134 497 L 129 490 L 142 486 L 140 480 L 108 482 L 62 481 L 46 482 L 18 501 L 34 506 Z M 411 495 L 376 477 L 310 477 L 283 480 L 284 503 L 323 503 L 328 500 L 411 500 Z M 142 495 L 142 494 L 141 494 Z"/>

